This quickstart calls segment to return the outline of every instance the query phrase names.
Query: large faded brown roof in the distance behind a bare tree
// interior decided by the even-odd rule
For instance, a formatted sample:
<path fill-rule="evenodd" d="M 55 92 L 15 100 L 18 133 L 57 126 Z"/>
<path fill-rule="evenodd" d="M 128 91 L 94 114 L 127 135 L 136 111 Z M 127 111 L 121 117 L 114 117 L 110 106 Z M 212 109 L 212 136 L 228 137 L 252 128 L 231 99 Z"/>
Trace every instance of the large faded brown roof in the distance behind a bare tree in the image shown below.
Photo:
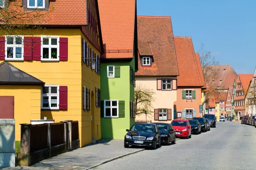
<path fill-rule="evenodd" d="M 233 86 L 234 80 L 237 80 L 237 74 L 231 65 L 212 65 L 209 68 L 211 69 L 206 73 L 206 77 L 209 77 L 206 80 L 207 86 L 214 86 L 218 90 L 227 90 L 228 87 Z M 213 75 L 212 70 L 216 71 L 214 77 L 210 76 Z"/>

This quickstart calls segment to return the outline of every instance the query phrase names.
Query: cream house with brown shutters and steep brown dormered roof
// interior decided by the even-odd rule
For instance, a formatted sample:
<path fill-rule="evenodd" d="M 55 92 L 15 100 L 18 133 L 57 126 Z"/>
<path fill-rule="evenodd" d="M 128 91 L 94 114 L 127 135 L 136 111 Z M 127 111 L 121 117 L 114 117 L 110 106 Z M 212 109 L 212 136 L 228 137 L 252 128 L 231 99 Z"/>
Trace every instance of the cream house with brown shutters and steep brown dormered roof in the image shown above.
<path fill-rule="evenodd" d="M 138 16 L 139 70 L 136 87 L 154 91 L 152 114 L 136 121 L 171 122 L 179 75 L 171 17 Z M 180 94 L 181 95 L 181 94 Z"/>

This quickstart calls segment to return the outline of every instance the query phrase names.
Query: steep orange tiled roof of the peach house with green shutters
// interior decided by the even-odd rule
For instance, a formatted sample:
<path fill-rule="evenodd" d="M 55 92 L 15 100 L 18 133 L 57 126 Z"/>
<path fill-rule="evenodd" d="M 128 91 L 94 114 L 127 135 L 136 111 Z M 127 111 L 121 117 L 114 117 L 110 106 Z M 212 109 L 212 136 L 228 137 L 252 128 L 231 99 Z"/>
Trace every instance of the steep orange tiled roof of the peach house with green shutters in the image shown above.
<path fill-rule="evenodd" d="M 178 86 L 200 86 L 201 76 L 191 37 L 174 37 L 176 56 L 180 75 Z"/>

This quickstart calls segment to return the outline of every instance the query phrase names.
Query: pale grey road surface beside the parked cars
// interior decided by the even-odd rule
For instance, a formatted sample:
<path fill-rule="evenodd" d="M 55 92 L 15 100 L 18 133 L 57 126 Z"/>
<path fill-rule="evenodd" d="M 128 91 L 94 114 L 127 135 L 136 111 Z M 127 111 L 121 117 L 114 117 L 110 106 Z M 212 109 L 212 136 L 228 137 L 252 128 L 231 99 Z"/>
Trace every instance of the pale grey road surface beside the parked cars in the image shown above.
<path fill-rule="evenodd" d="M 157 150 L 144 150 L 96 170 L 256 170 L 256 128 L 217 122 L 216 128 Z"/>

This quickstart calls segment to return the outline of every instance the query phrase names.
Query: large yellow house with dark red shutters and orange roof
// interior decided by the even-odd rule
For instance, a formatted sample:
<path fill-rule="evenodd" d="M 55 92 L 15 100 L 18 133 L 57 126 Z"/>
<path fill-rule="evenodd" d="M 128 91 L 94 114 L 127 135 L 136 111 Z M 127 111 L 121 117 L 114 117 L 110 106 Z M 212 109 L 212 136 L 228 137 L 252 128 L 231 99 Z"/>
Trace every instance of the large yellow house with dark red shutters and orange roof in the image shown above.
<path fill-rule="evenodd" d="M 0 119 L 14 117 L 17 141 L 19 124 L 32 119 L 78 120 L 80 146 L 90 144 L 101 138 L 103 43 L 97 0 L 51 1 L 54 7 L 47 0 L 34 6 L 27 2 L 23 1 L 20 10 L 51 12 L 42 23 L 35 21 L 42 26 L 39 31 L 1 34 L 0 101 L 6 102 L 0 102 Z"/>

